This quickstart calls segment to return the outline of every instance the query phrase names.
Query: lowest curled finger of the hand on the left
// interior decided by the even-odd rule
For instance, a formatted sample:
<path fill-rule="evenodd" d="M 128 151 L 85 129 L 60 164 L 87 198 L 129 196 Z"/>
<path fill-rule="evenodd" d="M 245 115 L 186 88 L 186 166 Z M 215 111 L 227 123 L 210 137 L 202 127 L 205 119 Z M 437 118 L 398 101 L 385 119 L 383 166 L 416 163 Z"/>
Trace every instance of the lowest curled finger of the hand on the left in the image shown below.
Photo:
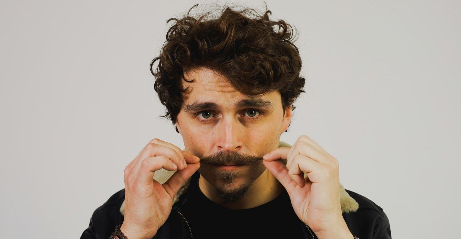
<path fill-rule="evenodd" d="M 174 171 L 177 169 L 177 166 L 171 162 L 168 157 L 163 155 L 143 159 L 138 171 L 138 181 L 141 183 L 140 186 L 151 184 L 155 171 L 162 168 L 169 171 Z"/>

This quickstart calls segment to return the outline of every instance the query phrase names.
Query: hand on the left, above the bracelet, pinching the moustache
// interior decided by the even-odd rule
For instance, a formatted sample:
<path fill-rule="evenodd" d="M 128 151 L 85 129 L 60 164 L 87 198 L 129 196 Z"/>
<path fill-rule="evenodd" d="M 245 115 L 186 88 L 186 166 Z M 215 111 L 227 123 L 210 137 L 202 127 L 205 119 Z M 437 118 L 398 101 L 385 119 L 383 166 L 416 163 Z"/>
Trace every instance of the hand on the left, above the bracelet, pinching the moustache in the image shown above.
<path fill-rule="evenodd" d="M 162 168 L 177 170 L 164 184 L 153 179 L 155 170 Z M 120 227 L 124 235 L 154 237 L 170 215 L 177 191 L 199 168 L 199 157 L 165 141 L 151 140 L 124 170 L 125 212 Z"/>

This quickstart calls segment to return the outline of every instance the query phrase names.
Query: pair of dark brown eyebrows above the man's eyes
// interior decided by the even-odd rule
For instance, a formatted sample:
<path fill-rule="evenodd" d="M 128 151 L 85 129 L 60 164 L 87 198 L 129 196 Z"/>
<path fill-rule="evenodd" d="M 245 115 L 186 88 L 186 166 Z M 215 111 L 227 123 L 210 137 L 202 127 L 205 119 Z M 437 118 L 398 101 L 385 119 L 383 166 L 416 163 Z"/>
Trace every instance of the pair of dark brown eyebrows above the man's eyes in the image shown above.
<path fill-rule="evenodd" d="M 262 100 L 262 99 L 242 99 L 236 102 L 234 105 L 236 108 L 243 108 L 243 107 L 255 107 L 255 108 L 260 108 L 260 109 L 265 109 L 265 110 L 272 110 L 272 103 L 267 100 Z M 194 113 L 197 111 L 202 111 L 205 109 L 212 109 L 212 110 L 218 110 L 219 106 L 218 104 L 214 102 L 200 102 L 196 101 L 190 105 L 186 105 L 184 107 L 184 111 L 189 112 L 189 113 Z"/>

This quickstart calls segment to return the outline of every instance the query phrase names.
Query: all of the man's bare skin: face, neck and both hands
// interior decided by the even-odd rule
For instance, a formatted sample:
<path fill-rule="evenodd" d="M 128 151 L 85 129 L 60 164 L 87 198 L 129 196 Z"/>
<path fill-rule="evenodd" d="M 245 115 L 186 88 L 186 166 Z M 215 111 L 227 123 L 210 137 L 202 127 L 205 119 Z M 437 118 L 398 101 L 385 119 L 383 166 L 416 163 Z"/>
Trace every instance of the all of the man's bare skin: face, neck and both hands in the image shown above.
<path fill-rule="evenodd" d="M 253 208 L 276 198 L 284 187 L 296 215 L 319 239 L 353 238 L 341 212 L 337 159 L 306 135 L 301 135 L 291 147 L 278 147 L 280 135 L 290 124 L 291 110 L 287 108 L 283 114 L 277 91 L 253 98 L 264 100 L 266 107 L 236 107 L 236 102 L 250 97 L 236 91 L 225 77 L 206 68 L 185 75 L 195 79 L 192 83 L 184 82 L 190 88 L 177 121 L 186 150 L 153 139 L 125 168 L 126 206 L 121 226 L 125 235 L 152 238 L 165 223 L 181 185 L 199 170 L 200 190 L 218 204 L 232 209 Z M 213 102 L 215 108 L 205 109 L 211 107 L 207 105 L 191 110 L 188 106 L 196 101 Z M 237 156 L 213 157 L 217 152 Z M 252 161 L 252 157 L 261 160 Z M 287 159 L 286 167 L 278 161 L 280 158 Z M 216 171 L 216 166 L 208 164 L 242 164 L 242 160 L 255 163 L 232 172 Z M 177 169 L 162 185 L 153 180 L 154 172 L 161 168 Z M 234 173 L 234 178 L 222 176 Z M 246 186 L 244 196 L 231 203 L 223 202 L 217 194 Z"/>

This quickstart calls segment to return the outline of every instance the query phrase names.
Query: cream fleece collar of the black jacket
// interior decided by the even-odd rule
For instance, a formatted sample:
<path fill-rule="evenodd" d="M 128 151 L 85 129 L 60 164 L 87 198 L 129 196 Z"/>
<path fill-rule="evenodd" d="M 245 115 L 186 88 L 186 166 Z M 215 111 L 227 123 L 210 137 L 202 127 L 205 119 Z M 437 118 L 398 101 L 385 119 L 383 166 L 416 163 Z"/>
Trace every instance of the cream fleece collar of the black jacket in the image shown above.
<path fill-rule="evenodd" d="M 285 143 L 284 141 L 279 141 L 278 147 L 291 147 L 290 144 Z M 184 149 L 183 149 L 184 150 Z M 286 165 L 287 160 L 286 159 L 279 159 L 282 163 Z M 154 180 L 158 181 L 160 184 L 165 183 L 171 175 L 173 175 L 175 171 L 168 171 L 165 169 L 160 169 L 155 172 L 154 174 Z M 305 174 L 306 176 L 306 174 Z M 187 190 L 190 184 L 190 178 L 184 182 L 183 186 L 179 189 L 177 192 L 175 198 L 173 199 L 173 204 L 175 204 L 179 200 L 179 196 L 183 194 Z M 357 201 L 355 201 L 354 198 L 352 198 L 348 192 L 344 189 L 343 185 L 340 183 L 339 184 L 339 191 L 340 191 L 340 200 L 341 200 L 341 210 L 343 213 L 349 213 L 349 212 L 355 212 L 356 210 L 359 209 L 359 204 Z M 125 200 L 123 200 L 122 205 L 120 206 L 120 213 L 124 215 L 125 212 Z"/>

